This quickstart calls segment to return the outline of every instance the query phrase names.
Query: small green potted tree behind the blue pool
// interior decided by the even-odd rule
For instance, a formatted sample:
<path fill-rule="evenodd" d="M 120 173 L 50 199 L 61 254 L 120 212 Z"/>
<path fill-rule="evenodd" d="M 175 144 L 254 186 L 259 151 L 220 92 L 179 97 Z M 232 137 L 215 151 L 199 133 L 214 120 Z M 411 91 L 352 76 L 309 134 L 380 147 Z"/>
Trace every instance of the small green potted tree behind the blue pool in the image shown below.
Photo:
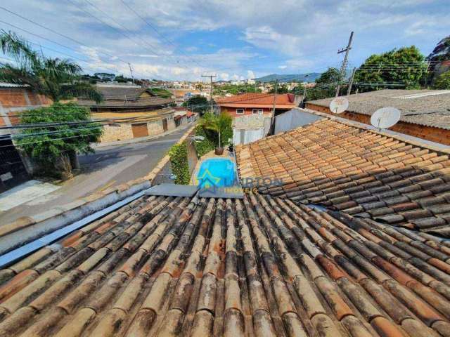
<path fill-rule="evenodd" d="M 205 130 L 210 140 L 218 147 L 229 144 L 229 139 L 233 138 L 233 128 L 231 126 L 233 119 L 229 114 L 222 112 L 217 114 L 204 114 L 198 121 L 198 125 Z M 209 132 L 208 132 L 209 131 Z"/>

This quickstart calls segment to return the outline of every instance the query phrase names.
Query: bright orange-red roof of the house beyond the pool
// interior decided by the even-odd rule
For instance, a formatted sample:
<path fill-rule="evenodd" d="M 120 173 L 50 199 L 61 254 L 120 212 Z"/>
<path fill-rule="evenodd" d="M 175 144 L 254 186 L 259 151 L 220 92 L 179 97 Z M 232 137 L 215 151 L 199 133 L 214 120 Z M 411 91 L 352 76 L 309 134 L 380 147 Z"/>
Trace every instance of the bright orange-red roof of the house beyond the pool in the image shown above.
<path fill-rule="evenodd" d="M 276 105 L 295 106 L 295 95 L 292 93 L 283 93 L 275 96 Z M 274 95 L 271 93 L 243 93 L 231 97 L 218 98 L 217 104 L 220 106 L 255 106 L 255 105 L 273 105 Z"/>

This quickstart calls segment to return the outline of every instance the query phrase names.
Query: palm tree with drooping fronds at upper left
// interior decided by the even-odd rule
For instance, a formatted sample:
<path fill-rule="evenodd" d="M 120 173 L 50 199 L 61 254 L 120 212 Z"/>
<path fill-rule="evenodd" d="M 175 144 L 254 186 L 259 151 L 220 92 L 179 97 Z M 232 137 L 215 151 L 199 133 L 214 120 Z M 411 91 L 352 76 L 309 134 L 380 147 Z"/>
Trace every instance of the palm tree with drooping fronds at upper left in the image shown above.
<path fill-rule="evenodd" d="M 34 51 L 30 44 L 13 32 L 0 32 L 0 49 L 17 62 L 17 65 L 0 62 L 0 80 L 26 84 L 48 96 L 53 102 L 83 96 L 97 103 L 103 100 L 94 86 L 80 81 L 82 67 L 67 59 L 46 58 Z"/>

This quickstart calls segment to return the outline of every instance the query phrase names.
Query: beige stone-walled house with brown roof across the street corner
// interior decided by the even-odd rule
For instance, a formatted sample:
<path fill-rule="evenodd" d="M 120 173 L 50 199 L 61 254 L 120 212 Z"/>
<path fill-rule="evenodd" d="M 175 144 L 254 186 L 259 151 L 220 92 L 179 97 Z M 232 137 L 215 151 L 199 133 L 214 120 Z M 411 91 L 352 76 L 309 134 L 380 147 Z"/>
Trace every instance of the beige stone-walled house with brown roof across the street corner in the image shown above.
<path fill-rule="evenodd" d="M 104 100 L 79 100 L 91 109 L 92 119 L 110 121 L 103 126 L 101 142 L 152 136 L 175 128 L 172 98 L 160 98 L 139 86 L 97 86 Z"/>

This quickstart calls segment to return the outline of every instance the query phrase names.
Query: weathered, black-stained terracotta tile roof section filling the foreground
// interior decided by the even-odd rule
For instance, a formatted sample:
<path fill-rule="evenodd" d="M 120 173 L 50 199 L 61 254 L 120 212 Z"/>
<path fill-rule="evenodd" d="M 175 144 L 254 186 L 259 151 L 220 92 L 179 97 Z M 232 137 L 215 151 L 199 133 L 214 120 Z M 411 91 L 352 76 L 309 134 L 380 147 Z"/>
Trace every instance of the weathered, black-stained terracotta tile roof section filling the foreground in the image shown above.
<path fill-rule="evenodd" d="M 143 197 L 1 270 L 0 336 L 448 336 L 450 246 L 249 194 Z"/>

